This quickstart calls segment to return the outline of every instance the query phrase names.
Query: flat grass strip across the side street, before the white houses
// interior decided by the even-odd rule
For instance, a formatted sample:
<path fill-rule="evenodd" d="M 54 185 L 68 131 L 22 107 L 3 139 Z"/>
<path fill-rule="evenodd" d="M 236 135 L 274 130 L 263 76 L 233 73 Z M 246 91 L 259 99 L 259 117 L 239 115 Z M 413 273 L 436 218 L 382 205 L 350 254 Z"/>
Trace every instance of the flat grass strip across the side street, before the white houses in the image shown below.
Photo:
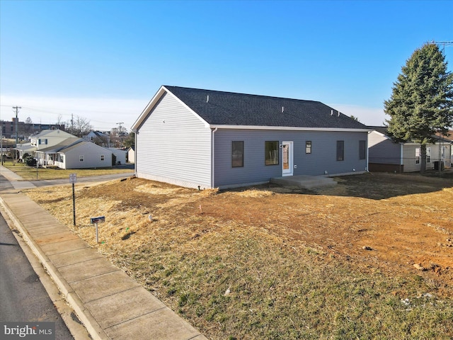
<path fill-rule="evenodd" d="M 39 168 L 26 166 L 23 163 L 4 162 L 4 166 L 21 176 L 25 181 L 35 181 L 37 179 L 69 179 L 69 174 L 77 174 L 77 177 L 88 177 L 88 176 L 102 176 L 112 174 L 127 174 L 132 173 L 132 169 L 111 169 L 111 168 L 100 168 L 100 169 L 58 169 L 58 168 Z"/>

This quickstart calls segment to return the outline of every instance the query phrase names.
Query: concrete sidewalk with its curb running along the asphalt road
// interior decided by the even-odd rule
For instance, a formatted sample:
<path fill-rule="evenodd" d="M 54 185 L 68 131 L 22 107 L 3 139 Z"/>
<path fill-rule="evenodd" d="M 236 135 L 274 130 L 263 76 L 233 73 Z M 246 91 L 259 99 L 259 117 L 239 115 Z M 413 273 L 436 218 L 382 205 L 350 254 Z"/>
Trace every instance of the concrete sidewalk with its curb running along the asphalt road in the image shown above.
<path fill-rule="evenodd" d="M 4 166 L 0 166 L 0 174 L 13 186 L 2 188 L 1 208 L 93 339 L 207 339 L 20 192 L 33 188 L 33 183 L 18 181 Z"/>

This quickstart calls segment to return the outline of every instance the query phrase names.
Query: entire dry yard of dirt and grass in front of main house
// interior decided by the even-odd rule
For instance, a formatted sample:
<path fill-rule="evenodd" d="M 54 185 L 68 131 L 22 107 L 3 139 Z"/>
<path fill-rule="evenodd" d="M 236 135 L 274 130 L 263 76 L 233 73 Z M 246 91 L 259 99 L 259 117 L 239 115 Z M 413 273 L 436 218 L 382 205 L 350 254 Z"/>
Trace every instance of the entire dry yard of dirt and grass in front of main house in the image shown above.
<path fill-rule="evenodd" d="M 337 180 L 316 191 L 77 185 L 75 228 L 70 186 L 27 194 L 212 339 L 450 339 L 453 179 Z"/>

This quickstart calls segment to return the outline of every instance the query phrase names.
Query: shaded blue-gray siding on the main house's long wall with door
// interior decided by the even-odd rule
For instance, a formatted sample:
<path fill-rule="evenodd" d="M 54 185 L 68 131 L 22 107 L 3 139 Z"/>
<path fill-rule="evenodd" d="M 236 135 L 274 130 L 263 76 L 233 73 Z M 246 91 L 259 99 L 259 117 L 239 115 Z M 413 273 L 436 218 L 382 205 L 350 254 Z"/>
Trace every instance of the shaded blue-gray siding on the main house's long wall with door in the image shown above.
<path fill-rule="evenodd" d="M 344 161 L 336 160 L 336 142 L 345 142 Z M 214 133 L 214 186 L 260 183 L 282 176 L 282 150 L 279 164 L 265 165 L 265 142 L 293 142 L 294 176 L 347 174 L 365 171 L 367 159 L 360 159 L 360 140 L 367 132 L 283 131 L 283 130 L 217 130 Z M 244 142 L 244 166 L 231 166 L 233 141 Z M 311 141 L 311 154 L 305 153 L 305 142 Z"/>

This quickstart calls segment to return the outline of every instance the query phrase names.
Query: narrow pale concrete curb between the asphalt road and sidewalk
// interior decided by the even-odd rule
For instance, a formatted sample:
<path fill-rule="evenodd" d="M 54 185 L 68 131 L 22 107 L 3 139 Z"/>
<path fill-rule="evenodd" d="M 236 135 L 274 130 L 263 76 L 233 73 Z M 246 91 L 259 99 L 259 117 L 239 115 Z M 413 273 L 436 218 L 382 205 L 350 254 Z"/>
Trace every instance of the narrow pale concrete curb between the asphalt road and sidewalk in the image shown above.
<path fill-rule="evenodd" d="M 7 193 L 13 195 L 14 193 Z M 84 323 L 86 330 L 90 334 L 90 336 L 95 340 L 105 340 L 110 339 L 102 327 L 98 324 L 96 319 L 91 315 L 91 313 L 86 310 L 84 307 L 84 303 L 81 302 L 80 298 L 76 295 L 74 290 L 71 288 L 69 283 L 60 275 L 59 271 L 55 266 L 50 262 L 50 260 L 45 255 L 44 251 L 40 249 L 40 246 L 36 244 L 28 231 L 23 227 L 21 221 L 16 218 L 16 215 L 13 214 L 11 209 L 9 208 L 8 204 L 4 201 L 4 199 L 0 196 L 0 205 L 3 210 L 8 214 L 8 218 L 13 222 L 16 226 L 18 231 L 21 233 L 23 239 L 28 244 L 30 249 L 33 251 L 35 256 L 38 257 L 39 261 L 42 263 L 42 266 L 46 269 L 47 273 L 49 273 L 52 280 L 54 280 L 55 284 L 58 286 L 61 293 L 64 295 L 69 305 L 73 308 L 74 312 L 79 317 L 80 321 Z"/>

